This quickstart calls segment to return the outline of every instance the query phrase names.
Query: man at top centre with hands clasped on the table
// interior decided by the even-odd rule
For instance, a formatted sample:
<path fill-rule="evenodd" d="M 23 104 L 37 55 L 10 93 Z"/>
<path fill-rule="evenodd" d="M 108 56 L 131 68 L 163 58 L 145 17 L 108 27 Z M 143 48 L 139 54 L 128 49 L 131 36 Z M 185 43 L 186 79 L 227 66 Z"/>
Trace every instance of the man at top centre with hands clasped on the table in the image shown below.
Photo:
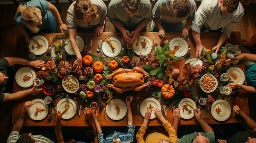
<path fill-rule="evenodd" d="M 131 45 L 140 31 L 146 32 L 146 25 L 152 19 L 152 5 L 149 0 L 111 0 L 107 17 Z"/>

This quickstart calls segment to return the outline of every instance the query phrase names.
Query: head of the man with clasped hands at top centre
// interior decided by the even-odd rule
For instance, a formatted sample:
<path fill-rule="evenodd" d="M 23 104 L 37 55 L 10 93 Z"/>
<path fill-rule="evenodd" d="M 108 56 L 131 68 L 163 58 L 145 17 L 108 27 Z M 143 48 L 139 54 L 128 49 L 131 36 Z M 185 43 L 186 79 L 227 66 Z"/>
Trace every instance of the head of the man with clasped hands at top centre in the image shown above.
<path fill-rule="evenodd" d="M 139 13 L 140 0 L 121 0 L 121 5 L 131 18 Z"/>

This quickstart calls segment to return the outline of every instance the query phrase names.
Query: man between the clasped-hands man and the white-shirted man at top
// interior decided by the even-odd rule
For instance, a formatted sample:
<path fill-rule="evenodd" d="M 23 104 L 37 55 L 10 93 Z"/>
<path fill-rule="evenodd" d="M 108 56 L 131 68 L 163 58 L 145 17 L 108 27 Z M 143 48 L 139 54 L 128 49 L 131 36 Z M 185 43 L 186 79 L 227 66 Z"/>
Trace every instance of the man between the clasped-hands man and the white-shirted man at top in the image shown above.
<path fill-rule="evenodd" d="M 188 30 L 196 13 L 194 0 L 158 0 L 153 8 L 153 22 L 150 31 L 165 37 L 165 32 L 182 32 L 188 37 Z"/>

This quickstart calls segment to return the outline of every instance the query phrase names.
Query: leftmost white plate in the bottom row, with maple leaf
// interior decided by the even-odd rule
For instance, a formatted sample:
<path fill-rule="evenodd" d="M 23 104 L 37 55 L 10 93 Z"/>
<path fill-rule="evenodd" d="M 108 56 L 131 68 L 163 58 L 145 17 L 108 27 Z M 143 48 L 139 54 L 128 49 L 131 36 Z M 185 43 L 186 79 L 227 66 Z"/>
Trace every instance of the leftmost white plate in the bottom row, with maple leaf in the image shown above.
<path fill-rule="evenodd" d="M 39 98 L 32 100 L 32 102 L 34 102 L 35 104 L 33 104 L 31 108 L 28 110 L 28 116 L 36 121 L 44 119 L 48 115 L 48 105 L 45 104 L 44 100 Z M 36 108 L 43 108 L 45 111 L 42 111 L 40 113 L 36 110 Z"/>

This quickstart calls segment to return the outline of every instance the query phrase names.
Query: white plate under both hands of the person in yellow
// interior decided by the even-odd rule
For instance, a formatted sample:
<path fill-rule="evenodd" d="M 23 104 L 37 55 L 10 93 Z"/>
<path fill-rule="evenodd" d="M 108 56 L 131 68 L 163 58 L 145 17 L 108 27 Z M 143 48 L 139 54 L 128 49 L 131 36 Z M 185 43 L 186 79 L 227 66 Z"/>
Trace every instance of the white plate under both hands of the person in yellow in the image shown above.
<path fill-rule="evenodd" d="M 161 105 L 160 103 L 158 102 L 158 100 L 156 100 L 155 98 L 146 98 L 145 100 L 143 100 L 140 104 L 140 114 L 144 117 L 145 116 L 145 113 L 146 111 L 148 110 L 148 106 L 153 106 L 154 108 L 158 108 L 159 110 L 161 110 Z M 151 112 L 151 116 L 150 116 L 150 119 L 154 119 L 156 118 L 156 114 L 155 114 L 155 111 L 154 111 L 154 108 Z"/>

